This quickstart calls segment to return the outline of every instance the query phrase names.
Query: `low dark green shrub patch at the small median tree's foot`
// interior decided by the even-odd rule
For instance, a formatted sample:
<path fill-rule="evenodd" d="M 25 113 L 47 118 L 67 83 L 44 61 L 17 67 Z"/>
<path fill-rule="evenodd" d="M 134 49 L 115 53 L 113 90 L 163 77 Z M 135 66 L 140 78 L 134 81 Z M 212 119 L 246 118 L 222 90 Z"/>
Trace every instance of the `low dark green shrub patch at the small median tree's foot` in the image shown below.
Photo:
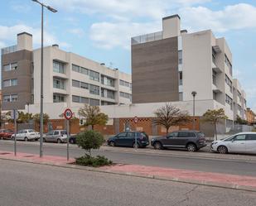
<path fill-rule="evenodd" d="M 76 165 L 84 165 L 84 166 L 92 166 L 92 167 L 99 167 L 104 165 L 112 165 L 112 160 L 109 160 L 105 156 L 81 156 L 78 158 L 75 158 L 75 164 Z"/>

